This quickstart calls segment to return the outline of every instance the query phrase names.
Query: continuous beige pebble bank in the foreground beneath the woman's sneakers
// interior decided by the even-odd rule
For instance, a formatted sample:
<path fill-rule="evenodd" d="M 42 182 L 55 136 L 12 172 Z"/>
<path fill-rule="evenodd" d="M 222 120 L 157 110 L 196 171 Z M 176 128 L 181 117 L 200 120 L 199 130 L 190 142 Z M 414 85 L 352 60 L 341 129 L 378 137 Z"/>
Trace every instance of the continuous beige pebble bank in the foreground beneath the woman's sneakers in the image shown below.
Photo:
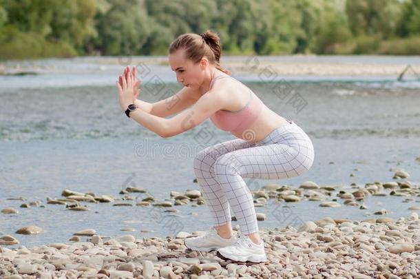
<path fill-rule="evenodd" d="M 0 276 L 14 278 L 419 278 L 420 220 L 322 218 L 301 227 L 262 230 L 268 261 L 229 262 L 216 251 L 186 249 L 175 238 L 103 240 L 78 231 L 81 242 L 1 247 Z M 3 236 L 4 238 L 4 236 Z M 3 239 L 4 240 L 4 239 Z"/>

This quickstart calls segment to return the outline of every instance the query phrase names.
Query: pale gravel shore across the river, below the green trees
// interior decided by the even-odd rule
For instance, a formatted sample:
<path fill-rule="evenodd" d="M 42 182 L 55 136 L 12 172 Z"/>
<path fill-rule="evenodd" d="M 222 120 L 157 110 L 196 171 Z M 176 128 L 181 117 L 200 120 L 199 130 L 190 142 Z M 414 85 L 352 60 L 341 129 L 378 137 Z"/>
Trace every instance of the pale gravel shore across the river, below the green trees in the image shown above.
<path fill-rule="evenodd" d="M 71 59 L 37 59 L 0 62 L 0 75 L 43 74 L 56 72 L 54 61 L 76 61 L 102 68 L 118 64 L 168 66 L 167 56 L 79 56 Z M 51 65 L 43 65 L 51 64 Z M 399 76 L 408 65 L 408 76 L 420 79 L 420 56 L 222 56 L 222 67 L 244 74 L 291 76 Z"/>

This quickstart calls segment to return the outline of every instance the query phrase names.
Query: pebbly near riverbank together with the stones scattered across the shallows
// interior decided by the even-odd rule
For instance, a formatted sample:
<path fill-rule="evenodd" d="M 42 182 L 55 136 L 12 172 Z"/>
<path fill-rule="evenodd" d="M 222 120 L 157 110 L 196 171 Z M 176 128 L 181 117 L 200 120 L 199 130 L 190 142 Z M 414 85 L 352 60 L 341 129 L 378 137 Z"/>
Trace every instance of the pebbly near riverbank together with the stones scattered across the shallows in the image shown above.
<path fill-rule="evenodd" d="M 406 180 L 410 174 L 397 170 L 395 181 L 350 185 L 353 191 L 338 186 L 302 183 L 298 188 L 268 184 L 251 189 L 255 207 L 275 206 L 276 218 L 287 214 L 287 203 L 300 200 L 318 202 L 320 207 L 354 206 L 367 209 L 364 198 L 375 196 L 419 196 L 418 183 Z M 62 198 L 47 198 L 48 206 L 63 205 L 69 210 L 90 210 L 88 203 L 114 203 L 115 206 L 160 208 L 167 214 L 178 212 L 176 205 L 200 206 L 204 199 L 198 190 L 184 194 L 171 192 L 167 200 L 155 200 L 140 187 L 127 187 L 119 193 L 98 196 L 65 189 Z M 130 196 L 136 194 L 136 198 Z M 19 200 L 19 198 L 16 198 Z M 22 199 L 24 200 L 24 199 Z M 135 203 L 133 204 L 133 200 Z M 340 203 L 342 202 L 342 203 Z M 86 204 L 86 205 L 83 205 Z M 182 206 L 178 208 L 182 209 Z M 41 202 L 25 202 L 21 208 L 45 207 Z M 278 207 L 278 208 L 277 208 Z M 38 247 L 6 248 L 19 240 L 10 234 L 0 236 L 0 277 L 12 278 L 419 278 L 420 220 L 414 210 L 397 220 L 375 215 L 387 214 L 386 209 L 371 212 L 364 220 L 322 218 L 296 220 L 284 228 L 262 229 L 268 261 L 258 265 L 229 262 L 216 256 L 216 251 L 198 253 L 183 244 L 183 239 L 203 234 L 203 231 L 178 231 L 167 238 L 136 238 L 124 235 L 116 238 L 101 236 L 95 229 L 76 231 L 70 242 Z M 23 209 L 24 210 L 24 209 Z M 290 210 L 290 209 L 289 209 Z M 2 214 L 20 214 L 12 207 Z M 153 214 L 151 212 L 151 214 Z M 276 216 L 277 215 L 277 216 Z M 258 213 L 258 220 L 266 216 Z M 235 216 L 232 216 L 235 221 Z M 233 224 L 234 225 L 234 224 Z M 235 225 L 239 231 L 239 226 Z M 41 227 L 29 225 L 16 234 L 39 234 Z"/>

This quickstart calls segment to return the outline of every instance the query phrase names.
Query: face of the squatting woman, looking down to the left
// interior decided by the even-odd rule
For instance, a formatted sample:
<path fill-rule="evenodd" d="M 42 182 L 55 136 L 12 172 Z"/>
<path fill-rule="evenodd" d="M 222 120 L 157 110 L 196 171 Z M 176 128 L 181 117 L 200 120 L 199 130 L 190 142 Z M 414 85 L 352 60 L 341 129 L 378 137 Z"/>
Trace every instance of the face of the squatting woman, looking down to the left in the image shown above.
<path fill-rule="evenodd" d="M 176 72 L 176 81 L 184 86 L 198 88 L 202 85 L 207 74 L 209 61 L 201 59 L 199 63 L 194 63 L 185 59 L 184 50 L 178 50 L 169 54 L 169 65 L 171 70 Z"/>

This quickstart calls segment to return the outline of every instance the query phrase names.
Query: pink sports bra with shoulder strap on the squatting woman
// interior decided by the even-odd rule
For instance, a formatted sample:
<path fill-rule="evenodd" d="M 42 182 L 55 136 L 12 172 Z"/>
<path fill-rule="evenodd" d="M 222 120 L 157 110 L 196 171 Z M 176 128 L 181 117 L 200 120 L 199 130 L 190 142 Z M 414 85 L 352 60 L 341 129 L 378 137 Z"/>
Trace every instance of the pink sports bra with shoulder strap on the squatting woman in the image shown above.
<path fill-rule="evenodd" d="M 224 77 L 230 77 L 229 75 L 220 75 L 212 79 L 210 82 L 209 88 L 213 86 L 216 79 L 222 79 Z M 235 81 L 238 81 L 235 79 Z M 246 128 L 251 126 L 251 124 L 257 119 L 260 114 L 264 103 L 249 89 L 249 101 L 246 103 L 242 109 L 235 112 L 229 110 L 218 110 L 212 116 L 210 116 L 211 121 L 221 130 L 231 132 L 233 134 L 242 134 Z"/>

